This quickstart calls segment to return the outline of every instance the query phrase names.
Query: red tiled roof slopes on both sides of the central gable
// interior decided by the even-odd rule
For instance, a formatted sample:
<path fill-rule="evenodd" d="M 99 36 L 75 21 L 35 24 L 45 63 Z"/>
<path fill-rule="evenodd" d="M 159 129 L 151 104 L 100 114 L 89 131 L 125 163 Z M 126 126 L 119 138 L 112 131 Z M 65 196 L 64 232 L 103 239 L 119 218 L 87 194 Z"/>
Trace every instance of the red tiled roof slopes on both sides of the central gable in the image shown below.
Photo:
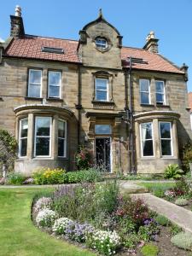
<path fill-rule="evenodd" d="M 70 61 L 80 62 L 77 52 L 78 41 L 43 38 L 38 36 L 25 35 L 24 38 L 13 39 L 5 55 L 20 58 L 33 58 L 51 61 Z M 64 54 L 42 52 L 43 47 L 55 47 L 64 49 Z M 124 67 L 128 65 L 126 59 L 131 56 L 134 58 L 142 58 L 146 64 L 136 64 L 133 67 L 143 70 L 153 70 L 170 73 L 183 73 L 172 62 L 167 61 L 159 54 L 154 54 L 145 49 L 136 49 L 122 47 L 121 59 Z"/>

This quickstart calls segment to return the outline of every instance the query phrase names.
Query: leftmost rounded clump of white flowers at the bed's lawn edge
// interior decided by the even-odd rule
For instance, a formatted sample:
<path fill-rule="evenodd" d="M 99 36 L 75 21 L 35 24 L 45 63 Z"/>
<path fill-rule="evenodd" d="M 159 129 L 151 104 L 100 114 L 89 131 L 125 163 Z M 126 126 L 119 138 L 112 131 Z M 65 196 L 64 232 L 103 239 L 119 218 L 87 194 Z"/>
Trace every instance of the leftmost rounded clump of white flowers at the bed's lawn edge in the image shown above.
<path fill-rule="evenodd" d="M 50 209 L 44 208 L 43 210 L 38 212 L 38 215 L 36 217 L 36 222 L 38 226 L 51 227 L 56 218 L 57 218 L 56 212 Z"/>

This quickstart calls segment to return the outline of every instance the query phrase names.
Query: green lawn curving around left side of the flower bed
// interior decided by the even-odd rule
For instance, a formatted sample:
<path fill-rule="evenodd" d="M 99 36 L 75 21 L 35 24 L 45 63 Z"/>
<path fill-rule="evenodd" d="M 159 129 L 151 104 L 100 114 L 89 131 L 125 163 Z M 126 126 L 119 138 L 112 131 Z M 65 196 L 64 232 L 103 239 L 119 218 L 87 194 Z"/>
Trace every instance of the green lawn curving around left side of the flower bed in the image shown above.
<path fill-rule="evenodd" d="M 32 224 L 32 198 L 50 189 L 0 189 L 1 256 L 79 256 L 95 255 L 88 250 L 39 230 Z"/>

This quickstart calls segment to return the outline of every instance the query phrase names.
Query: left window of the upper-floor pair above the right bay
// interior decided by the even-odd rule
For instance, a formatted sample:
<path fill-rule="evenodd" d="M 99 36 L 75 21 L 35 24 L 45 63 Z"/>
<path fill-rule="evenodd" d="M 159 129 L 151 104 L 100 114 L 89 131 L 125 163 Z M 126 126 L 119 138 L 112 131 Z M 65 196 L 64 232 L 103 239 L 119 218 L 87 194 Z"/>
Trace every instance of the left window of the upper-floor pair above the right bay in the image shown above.
<path fill-rule="evenodd" d="M 140 79 L 141 104 L 150 104 L 150 84 L 148 79 Z"/>

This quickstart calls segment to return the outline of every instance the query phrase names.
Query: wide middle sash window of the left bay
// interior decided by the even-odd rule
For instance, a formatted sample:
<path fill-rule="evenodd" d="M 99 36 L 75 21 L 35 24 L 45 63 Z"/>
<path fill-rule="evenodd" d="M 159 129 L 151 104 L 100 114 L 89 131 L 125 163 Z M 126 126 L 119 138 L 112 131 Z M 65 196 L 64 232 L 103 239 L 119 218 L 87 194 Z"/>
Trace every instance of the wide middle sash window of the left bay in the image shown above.
<path fill-rule="evenodd" d="M 50 156 L 51 121 L 50 117 L 35 119 L 35 156 Z"/>

